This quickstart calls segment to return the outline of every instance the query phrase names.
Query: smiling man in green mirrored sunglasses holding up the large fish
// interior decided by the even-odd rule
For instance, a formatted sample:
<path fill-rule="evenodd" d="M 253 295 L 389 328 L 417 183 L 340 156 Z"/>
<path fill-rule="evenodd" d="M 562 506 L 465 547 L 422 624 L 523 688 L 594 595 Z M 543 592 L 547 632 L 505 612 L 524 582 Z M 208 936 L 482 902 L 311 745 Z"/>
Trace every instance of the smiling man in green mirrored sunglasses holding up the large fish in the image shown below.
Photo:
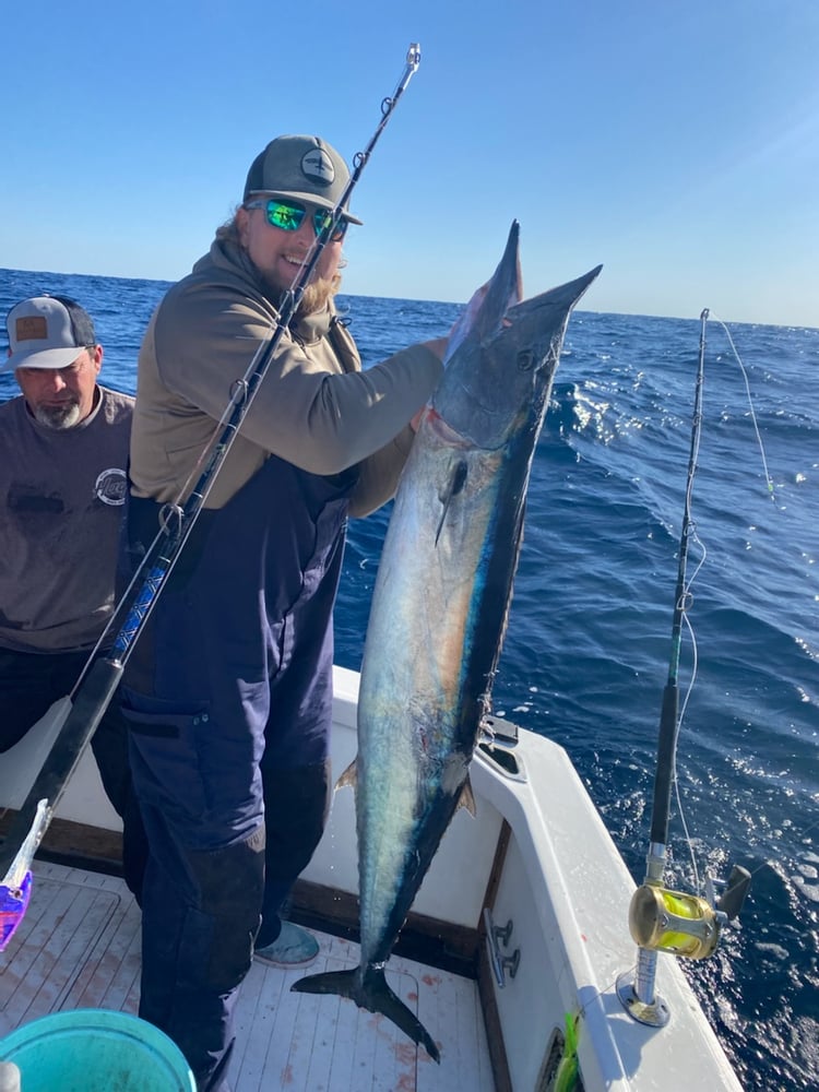
<path fill-rule="evenodd" d="M 123 711 L 150 843 L 140 1014 L 224 1092 L 253 948 L 297 965 L 280 911 L 329 799 L 332 609 L 348 515 L 394 492 L 446 341 L 361 371 L 339 320 L 348 170 L 316 136 L 254 159 L 242 203 L 155 312 L 139 360 L 128 560 L 197 480 L 237 383 L 322 230 L 332 233 L 128 661 Z M 261 927 L 260 927 L 261 917 Z"/>

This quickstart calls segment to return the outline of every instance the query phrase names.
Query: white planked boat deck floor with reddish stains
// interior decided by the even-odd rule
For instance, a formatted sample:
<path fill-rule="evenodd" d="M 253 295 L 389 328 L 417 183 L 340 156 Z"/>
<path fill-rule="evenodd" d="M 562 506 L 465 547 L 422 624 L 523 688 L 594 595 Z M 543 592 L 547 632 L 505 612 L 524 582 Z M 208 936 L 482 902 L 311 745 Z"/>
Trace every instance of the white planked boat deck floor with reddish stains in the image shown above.
<path fill-rule="evenodd" d="M 381 1017 L 336 997 L 293 994 L 302 974 L 358 963 L 358 946 L 327 934 L 308 970 L 254 963 L 237 1007 L 235 1092 L 494 1092 L 477 986 L 393 957 L 392 988 L 441 1052 L 440 1066 Z M 0 1035 L 61 1009 L 136 1012 L 140 912 L 124 883 L 37 863 L 26 916 L 0 953 Z"/>

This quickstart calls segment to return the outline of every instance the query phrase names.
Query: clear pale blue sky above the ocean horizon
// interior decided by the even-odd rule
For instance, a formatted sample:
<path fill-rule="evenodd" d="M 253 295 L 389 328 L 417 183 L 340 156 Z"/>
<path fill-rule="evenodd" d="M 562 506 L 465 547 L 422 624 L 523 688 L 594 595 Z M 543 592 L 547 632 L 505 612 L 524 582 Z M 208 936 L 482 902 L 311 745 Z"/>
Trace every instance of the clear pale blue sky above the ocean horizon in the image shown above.
<path fill-rule="evenodd" d="M 343 290 L 819 327 L 817 0 L 44 0 L 3 13 L 0 265 L 177 280 L 273 136 L 364 171 Z"/>

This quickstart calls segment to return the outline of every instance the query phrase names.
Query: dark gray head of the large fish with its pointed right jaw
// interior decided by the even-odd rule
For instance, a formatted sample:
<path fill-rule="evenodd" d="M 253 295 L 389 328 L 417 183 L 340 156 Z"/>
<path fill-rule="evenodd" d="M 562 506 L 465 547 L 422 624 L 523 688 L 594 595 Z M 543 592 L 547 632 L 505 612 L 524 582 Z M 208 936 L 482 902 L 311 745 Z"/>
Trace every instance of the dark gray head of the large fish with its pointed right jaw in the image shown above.
<path fill-rule="evenodd" d="M 508 302 L 501 312 L 496 295 L 495 311 L 484 313 L 483 321 L 478 312 L 447 364 L 431 399 L 437 415 L 484 449 L 503 447 L 522 429 L 539 429 L 569 314 L 601 269 L 532 299 Z M 489 306 L 490 292 L 482 309 Z"/>

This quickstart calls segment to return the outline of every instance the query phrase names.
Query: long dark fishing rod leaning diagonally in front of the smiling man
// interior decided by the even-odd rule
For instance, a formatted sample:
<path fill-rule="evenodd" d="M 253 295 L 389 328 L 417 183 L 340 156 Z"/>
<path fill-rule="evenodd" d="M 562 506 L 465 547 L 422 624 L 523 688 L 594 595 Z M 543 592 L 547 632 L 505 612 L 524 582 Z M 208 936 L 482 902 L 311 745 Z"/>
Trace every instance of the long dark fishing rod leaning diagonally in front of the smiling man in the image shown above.
<path fill-rule="evenodd" d="M 294 284 L 284 293 L 278 307 L 278 317 L 270 336 L 259 346 L 245 376 L 234 384 L 230 400 L 217 425 L 217 429 L 221 427 L 221 432 L 210 444 L 202 460 L 198 480 L 182 506 L 170 505 L 163 510 L 159 533 L 106 629 L 106 633 L 110 632 L 116 625 L 115 619 L 124 615 L 124 621 L 116 634 L 110 654 L 95 660 L 91 667 L 86 665 L 73 691 L 73 702 L 63 699 L 61 715 L 64 716 L 64 721 L 59 735 L 20 811 L 10 824 L 0 850 L 0 876 L 3 877 L 0 880 L 0 951 L 10 940 L 11 934 L 25 913 L 31 892 L 31 863 L 48 829 L 66 784 L 110 704 L 133 645 L 204 507 L 207 494 L 241 428 L 245 415 L 264 379 L 276 347 L 298 310 L 321 253 L 343 218 L 349 197 L 369 162 L 372 150 L 419 63 L 420 48 L 417 43 L 412 43 L 395 91 L 381 102 L 381 120 L 376 131 L 366 149 L 356 153 L 353 161 L 354 169 L 342 195 L 296 273 Z M 92 658 L 93 656 L 94 653 Z"/>

